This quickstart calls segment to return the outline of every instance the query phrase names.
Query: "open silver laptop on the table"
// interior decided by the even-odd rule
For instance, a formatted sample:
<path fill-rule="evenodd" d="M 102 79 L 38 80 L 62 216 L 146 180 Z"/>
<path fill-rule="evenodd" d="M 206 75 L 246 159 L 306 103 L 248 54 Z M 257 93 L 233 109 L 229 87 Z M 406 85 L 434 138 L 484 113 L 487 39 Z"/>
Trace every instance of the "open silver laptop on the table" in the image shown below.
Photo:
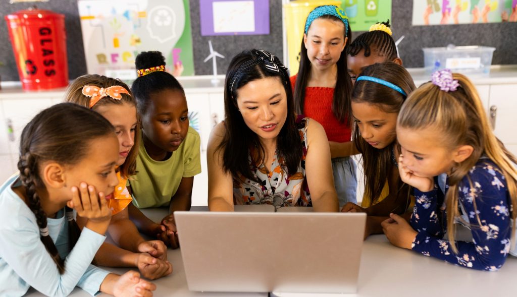
<path fill-rule="evenodd" d="M 355 293 L 365 213 L 174 213 L 189 290 Z"/>

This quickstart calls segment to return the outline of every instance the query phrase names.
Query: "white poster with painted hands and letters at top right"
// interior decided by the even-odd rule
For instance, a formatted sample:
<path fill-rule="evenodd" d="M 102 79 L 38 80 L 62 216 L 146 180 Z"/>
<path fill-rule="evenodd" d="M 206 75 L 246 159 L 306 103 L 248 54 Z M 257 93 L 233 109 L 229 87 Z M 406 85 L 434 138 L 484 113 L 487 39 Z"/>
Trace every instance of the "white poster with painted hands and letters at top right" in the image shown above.
<path fill-rule="evenodd" d="M 517 0 L 413 0 L 413 25 L 517 22 Z"/>

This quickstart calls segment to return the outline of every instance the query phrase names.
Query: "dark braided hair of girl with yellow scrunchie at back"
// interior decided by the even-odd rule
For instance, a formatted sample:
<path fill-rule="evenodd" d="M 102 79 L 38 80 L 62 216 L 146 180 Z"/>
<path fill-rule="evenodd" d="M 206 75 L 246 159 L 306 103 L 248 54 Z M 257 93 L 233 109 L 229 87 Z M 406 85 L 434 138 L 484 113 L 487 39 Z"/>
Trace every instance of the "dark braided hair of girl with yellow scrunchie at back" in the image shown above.
<path fill-rule="evenodd" d="M 379 23 L 377 23 L 379 24 Z M 389 20 L 380 24 L 390 28 Z M 379 56 L 386 57 L 386 60 L 392 61 L 397 58 L 397 46 L 395 41 L 388 33 L 381 30 L 373 30 L 365 32 L 354 39 L 347 49 L 347 54 L 355 56 L 364 50 L 364 56 L 369 57 L 373 52 Z"/>

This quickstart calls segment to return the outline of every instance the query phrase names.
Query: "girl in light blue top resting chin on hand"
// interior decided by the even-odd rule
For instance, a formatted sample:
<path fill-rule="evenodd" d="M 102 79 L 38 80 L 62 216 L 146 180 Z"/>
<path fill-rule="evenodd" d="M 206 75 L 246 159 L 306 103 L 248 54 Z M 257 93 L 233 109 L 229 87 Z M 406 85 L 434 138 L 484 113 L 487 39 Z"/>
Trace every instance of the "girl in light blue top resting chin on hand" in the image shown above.
<path fill-rule="evenodd" d="M 71 103 L 47 108 L 23 129 L 20 173 L 0 187 L 0 295 L 33 287 L 66 296 L 75 286 L 92 295 L 152 295 L 156 286 L 138 273 L 119 276 L 90 264 L 118 183 L 114 132 L 100 114 Z M 87 219 L 82 231 L 72 211 Z"/>

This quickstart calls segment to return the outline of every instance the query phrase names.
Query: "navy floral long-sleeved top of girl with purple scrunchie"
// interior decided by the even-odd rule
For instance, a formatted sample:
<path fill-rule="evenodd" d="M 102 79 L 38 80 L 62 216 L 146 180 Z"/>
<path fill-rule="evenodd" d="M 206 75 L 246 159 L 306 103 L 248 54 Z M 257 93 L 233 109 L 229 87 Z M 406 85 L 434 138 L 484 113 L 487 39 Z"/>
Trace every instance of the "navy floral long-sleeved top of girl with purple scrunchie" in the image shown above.
<path fill-rule="evenodd" d="M 512 210 L 505 177 L 497 165 L 482 158 L 459 183 L 460 213 L 468 220 L 473 242 L 456 241 L 458 254 L 454 254 L 451 243 L 444 239 L 445 194 L 436 181 L 435 189 L 430 192 L 415 189 L 416 204 L 410 223 L 418 234 L 413 250 L 477 270 L 495 271 L 503 266 L 510 252 Z"/>

